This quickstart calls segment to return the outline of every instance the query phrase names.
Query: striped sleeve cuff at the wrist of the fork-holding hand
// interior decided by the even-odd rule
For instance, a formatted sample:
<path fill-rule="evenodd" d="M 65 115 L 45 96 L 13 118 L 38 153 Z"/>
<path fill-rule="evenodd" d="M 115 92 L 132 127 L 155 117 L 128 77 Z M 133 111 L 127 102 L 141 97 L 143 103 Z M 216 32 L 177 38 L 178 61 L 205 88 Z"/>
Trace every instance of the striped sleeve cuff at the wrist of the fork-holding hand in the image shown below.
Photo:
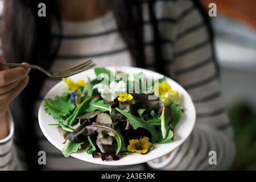
<path fill-rule="evenodd" d="M 19 164 L 16 147 L 13 142 L 14 122 L 10 111 L 8 111 L 7 118 L 9 121 L 9 135 L 0 140 L 0 171 L 15 171 L 22 169 L 22 166 Z"/>

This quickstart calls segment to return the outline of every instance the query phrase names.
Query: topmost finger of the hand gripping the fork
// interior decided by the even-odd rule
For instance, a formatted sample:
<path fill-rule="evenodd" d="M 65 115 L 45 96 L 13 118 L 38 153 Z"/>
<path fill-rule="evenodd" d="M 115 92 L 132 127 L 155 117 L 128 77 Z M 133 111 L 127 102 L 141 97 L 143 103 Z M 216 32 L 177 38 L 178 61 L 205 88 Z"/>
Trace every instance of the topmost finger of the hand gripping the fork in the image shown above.
<path fill-rule="evenodd" d="M 12 68 L 0 71 L 0 86 L 5 86 L 24 78 L 31 68 Z"/>

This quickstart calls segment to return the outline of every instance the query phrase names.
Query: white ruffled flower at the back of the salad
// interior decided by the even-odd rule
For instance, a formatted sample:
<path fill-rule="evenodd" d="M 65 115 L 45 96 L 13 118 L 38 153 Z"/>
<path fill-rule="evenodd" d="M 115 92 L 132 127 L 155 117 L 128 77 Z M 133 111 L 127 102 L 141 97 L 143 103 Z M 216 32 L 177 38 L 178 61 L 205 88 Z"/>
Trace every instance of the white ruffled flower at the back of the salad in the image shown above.
<path fill-rule="evenodd" d="M 97 88 L 98 92 L 101 93 L 101 97 L 107 101 L 113 101 L 118 97 L 119 93 L 126 92 L 126 83 L 124 81 L 110 82 L 109 85 L 100 83 L 93 86 L 93 89 Z"/>

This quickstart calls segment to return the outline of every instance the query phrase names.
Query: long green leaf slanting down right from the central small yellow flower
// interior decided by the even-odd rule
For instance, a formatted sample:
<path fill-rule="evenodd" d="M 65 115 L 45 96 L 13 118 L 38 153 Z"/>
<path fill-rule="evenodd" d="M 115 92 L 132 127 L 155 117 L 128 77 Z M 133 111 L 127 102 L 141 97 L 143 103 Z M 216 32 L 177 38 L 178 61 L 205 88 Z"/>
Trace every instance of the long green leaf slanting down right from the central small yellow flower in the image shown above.
<path fill-rule="evenodd" d="M 150 125 L 150 123 L 147 123 L 143 119 L 137 118 L 134 115 L 131 115 L 130 113 L 126 113 L 117 107 L 115 109 L 129 119 L 129 122 L 131 126 L 133 126 L 133 129 L 137 129 L 138 127 L 143 127 L 144 129 L 147 129 L 148 131 L 150 131 L 150 133 L 152 134 L 153 143 L 155 143 L 156 140 L 158 140 L 158 133 L 156 132 L 155 127 Z"/>

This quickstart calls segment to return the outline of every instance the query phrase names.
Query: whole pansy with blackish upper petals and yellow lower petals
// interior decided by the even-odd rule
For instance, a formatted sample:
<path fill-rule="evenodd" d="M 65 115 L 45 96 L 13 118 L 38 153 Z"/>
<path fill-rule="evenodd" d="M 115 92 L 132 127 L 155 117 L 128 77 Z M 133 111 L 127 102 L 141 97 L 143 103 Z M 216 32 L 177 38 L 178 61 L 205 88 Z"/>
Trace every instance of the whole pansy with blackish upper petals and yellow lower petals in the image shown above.
<path fill-rule="evenodd" d="M 127 144 L 127 151 L 130 152 L 146 154 L 152 146 L 151 133 L 143 127 L 127 131 L 124 139 Z"/>

